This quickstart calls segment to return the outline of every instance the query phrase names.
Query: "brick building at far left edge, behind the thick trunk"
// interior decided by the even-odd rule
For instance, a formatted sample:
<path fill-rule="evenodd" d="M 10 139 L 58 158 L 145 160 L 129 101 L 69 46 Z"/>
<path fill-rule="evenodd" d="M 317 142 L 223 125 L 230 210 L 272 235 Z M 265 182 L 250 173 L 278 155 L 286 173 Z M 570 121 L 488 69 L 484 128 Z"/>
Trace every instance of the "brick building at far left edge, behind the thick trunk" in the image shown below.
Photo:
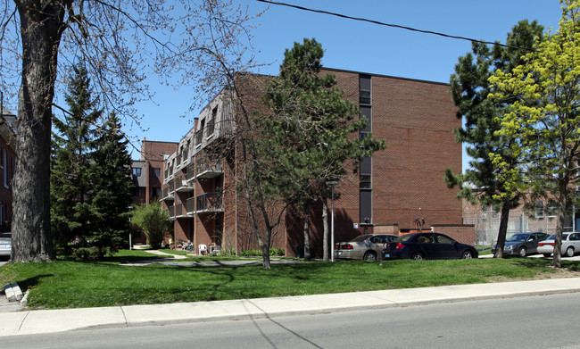
<path fill-rule="evenodd" d="M 0 232 L 10 231 L 12 222 L 12 177 L 16 162 L 16 116 L 6 109 L 0 115 Z"/>

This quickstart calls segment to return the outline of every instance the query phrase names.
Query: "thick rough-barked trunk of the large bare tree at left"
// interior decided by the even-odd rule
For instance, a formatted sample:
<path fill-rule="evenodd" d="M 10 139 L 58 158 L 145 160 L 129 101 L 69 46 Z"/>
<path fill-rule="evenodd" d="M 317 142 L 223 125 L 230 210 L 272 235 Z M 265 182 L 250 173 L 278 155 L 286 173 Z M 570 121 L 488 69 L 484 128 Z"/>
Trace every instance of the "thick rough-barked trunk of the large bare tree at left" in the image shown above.
<path fill-rule="evenodd" d="M 32 4 L 31 4 L 32 3 Z M 16 1 L 21 18 L 22 82 L 12 181 L 12 261 L 54 259 L 50 233 L 50 138 L 64 5 Z M 46 3 L 46 2 L 44 2 Z"/>

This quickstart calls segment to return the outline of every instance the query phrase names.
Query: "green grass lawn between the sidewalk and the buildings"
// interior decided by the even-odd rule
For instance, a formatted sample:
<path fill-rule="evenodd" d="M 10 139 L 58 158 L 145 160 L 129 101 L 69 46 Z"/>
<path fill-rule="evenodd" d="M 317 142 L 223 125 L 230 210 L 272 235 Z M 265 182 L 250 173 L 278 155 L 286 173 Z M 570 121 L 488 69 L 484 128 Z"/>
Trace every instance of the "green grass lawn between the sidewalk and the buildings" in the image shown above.
<path fill-rule="evenodd" d="M 30 289 L 29 306 L 33 308 L 57 309 L 485 283 L 557 272 L 551 261 L 535 258 L 301 262 L 273 264 L 271 270 L 262 270 L 260 265 L 119 265 L 147 258 L 159 257 L 144 251 L 121 251 L 104 262 L 6 264 L 0 267 L 0 283 L 17 282 L 23 291 Z M 579 262 L 565 264 L 580 270 Z"/>

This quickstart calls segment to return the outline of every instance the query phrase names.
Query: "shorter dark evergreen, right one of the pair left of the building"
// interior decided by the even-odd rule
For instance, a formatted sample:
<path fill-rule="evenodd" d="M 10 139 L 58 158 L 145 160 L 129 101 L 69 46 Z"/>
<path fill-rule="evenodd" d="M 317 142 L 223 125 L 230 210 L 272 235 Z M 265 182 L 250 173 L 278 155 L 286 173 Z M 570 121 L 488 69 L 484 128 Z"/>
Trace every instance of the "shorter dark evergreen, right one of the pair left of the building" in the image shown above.
<path fill-rule="evenodd" d="M 99 257 L 116 252 L 130 233 L 129 207 L 135 184 L 128 141 L 120 128 L 119 118 L 112 113 L 95 139 L 90 170 L 91 204 L 95 212 L 91 245 L 98 248 Z"/>

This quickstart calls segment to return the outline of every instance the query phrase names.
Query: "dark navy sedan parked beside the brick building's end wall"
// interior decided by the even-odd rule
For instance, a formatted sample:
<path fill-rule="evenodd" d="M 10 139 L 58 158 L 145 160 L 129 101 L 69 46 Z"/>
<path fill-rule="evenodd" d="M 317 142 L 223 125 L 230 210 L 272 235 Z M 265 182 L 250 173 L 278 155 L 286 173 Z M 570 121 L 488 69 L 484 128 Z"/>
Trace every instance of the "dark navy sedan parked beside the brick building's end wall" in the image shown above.
<path fill-rule="evenodd" d="M 461 244 L 443 234 L 428 232 L 403 235 L 386 244 L 381 255 L 384 260 L 436 260 L 477 258 L 478 253 L 472 245 Z"/>

